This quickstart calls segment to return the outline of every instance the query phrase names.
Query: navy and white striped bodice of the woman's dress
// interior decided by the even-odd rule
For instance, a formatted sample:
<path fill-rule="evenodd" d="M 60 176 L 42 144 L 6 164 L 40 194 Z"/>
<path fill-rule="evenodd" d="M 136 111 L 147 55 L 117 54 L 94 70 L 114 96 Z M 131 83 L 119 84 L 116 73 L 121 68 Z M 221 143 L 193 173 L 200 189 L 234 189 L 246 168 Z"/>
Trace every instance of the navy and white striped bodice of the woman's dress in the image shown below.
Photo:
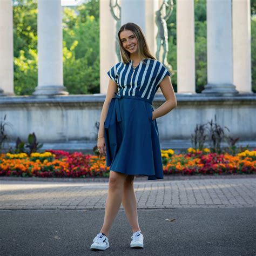
<path fill-rule="evenodd" d="M 107 75 L 117 83 L 117 95 L 137 96 L 152 102 L 159 84 L 170 72 L 158 60 L 144 59 L 135 69 L 132 60 L 127 64 L 119 62 Z"/>

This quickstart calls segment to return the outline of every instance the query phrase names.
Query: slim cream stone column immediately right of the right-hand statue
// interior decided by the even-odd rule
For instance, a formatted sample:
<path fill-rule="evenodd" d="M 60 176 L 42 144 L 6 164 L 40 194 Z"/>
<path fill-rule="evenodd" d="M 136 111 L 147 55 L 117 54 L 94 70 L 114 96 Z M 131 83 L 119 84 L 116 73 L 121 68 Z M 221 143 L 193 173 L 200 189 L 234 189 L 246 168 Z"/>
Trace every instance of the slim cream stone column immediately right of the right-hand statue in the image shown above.
<path fill-rule="evenodd" d="M 177 1 L 177 92 L 196 92 L 194 1 Z"/>

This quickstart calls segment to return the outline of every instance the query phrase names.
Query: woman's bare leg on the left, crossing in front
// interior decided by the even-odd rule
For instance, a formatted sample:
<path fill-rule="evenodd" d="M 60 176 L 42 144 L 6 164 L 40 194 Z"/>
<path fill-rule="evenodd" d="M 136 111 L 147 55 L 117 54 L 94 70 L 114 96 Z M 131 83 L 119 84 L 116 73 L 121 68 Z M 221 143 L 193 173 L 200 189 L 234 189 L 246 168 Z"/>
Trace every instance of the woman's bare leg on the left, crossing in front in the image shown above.
<path fill-rule="evenodd" d="M 107 194 L 104 223 L 100 233 L 109 235 L 110 227 L 122 203 L 126 174 L 110 171 L 109 193 Z"/>

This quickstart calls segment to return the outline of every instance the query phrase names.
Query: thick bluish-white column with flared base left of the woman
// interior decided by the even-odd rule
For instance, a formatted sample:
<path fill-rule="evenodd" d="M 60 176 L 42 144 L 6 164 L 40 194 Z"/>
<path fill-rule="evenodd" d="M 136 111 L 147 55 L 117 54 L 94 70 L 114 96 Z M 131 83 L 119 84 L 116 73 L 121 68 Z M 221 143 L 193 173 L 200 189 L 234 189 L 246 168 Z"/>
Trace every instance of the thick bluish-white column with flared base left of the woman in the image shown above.
<path fill-rule="evenodd" d="M 68 95 L 63 86 L 62 5 L 38 0 L 38 86 L 33 95 Z"/>

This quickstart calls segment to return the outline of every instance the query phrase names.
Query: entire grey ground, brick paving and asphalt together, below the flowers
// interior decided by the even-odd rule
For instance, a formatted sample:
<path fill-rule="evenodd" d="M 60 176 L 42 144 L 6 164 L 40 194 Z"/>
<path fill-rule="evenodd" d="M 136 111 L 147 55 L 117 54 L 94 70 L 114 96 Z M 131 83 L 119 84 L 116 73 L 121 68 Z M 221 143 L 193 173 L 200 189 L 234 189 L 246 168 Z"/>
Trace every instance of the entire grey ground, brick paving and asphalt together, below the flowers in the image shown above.
<path fill-rule="evenodd" d="M 90 250 L 103 224 L 106 179 L 0 177 L 0 255 L 256 255 L 255 177 L 137 179 L 145 247 L 130 248 L 121 207 L 106 251 Z"/>

